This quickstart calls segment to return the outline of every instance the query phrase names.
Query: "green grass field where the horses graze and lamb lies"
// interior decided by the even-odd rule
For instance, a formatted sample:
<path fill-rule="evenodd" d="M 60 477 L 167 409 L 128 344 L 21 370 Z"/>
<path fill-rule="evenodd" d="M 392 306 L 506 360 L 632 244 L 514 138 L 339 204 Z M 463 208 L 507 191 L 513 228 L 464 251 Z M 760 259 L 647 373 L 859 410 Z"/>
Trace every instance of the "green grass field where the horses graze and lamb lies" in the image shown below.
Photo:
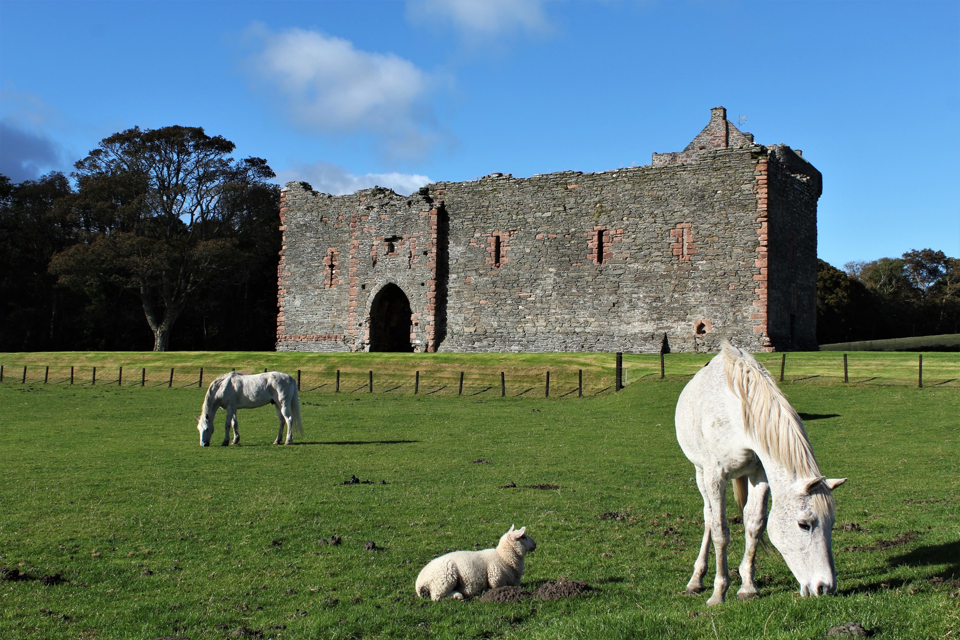
<path fill-rule="evenodd" d="M 612 393 L 610 354 L 445 355 L 3 354 L 0 566 L 21 575 L 0 581 L 0 637 L 815 638 L 851 621 L 883 638 L 960 633 L 955 354 L 930 354 L 942 368 L 928 379 L 924 354 L 924 389 L 915 354 L 852 354 L 848 385 L 837 354 L 788 354 L 783 389 L 821 468 L 850 478 L 835 494 L 839 593 L 801 599 L 768 552 L 761 598 L 709 609 L 708 594 L 681 595 L 702 505 L 673 433 L 676 398 L 706 356 L 668 355 L 661 381 L 659 358 L 625 355 L 635 384 Z M 857 356 L 863 378 L 886 382 L 859 382 Z M 779 354 L 762 358 L 779 375 Z M 142 389 L 11 377 L 12 367 L 70 362 L 124 366 L 125 378 L 127 367 L 195 371 L 173 389 L 159 375 Z M 268 445 L 276 417 L 263 408 L 241 413 L 240 446 L 202 448 L 200 366 L 339 367 L 360 380 L 340 394 L 304 385 L 295 446 Z M 422 379 L 416 396 L 412 381 L 373 393 L 363 384 L 370 368 L 379 381 L 419 368 L 455 378 L 461 367 L 494 381 L 463 396 L 428 395 Z M 582 399 L 516 395 L 547 368 L 563 392 L 577 368 L 585 382 L 609 382 Z M 501 398 L 500 370 L 529 382 Z M 214 441 L 221 429 L 222 414 Z M 372 484 L 342 485 L 351 475 Z M 536 485 L 560 488 L 524 487 Z M 622 519 L 601 517 L 613 512 Z M 492 546 L 511 524 L 539 545 L 525 587 L 567 577 L 594 590 L 519 604 L 414 597 L 431 557 Z M 735 566 L 742 527 L 732 532 Z M 322 543 L 333 535 L 342 544 Z M 61 583 L 39 580 L 58 574 Z"/>

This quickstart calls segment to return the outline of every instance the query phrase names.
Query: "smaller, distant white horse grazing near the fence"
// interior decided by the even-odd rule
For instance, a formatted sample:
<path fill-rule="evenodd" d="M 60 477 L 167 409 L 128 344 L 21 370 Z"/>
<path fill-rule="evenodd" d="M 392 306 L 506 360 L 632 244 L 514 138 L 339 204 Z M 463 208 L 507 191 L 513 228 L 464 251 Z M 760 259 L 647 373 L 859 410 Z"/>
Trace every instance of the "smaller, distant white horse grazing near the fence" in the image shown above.
<path fill-rule="evenodd" d="M 280 430 L 276 433 L 274 444 L 283 437 L 283 427 L 287 428 L 286 444 L 293 443 L 293 435 L 303 433 L 300 423 L 300 394 L 297 381 L 293 376 L 279 371 L 240 375 L 230 372 L 210 383 L 204 396 L 203 414 L 197 417 L 197 430 L 200 431 L 201 446 L 209 446 L 213 436 L 213 418 L 218 409 L 227 410 L 227 433 L 223 445 L 230 439 L 230 426 L 233 427 L 233 444 L 240 442 L 240 425 L 237 422 L 237 409 L 255 409 L 265 404 L 276 408 L 276 417 L 280 420 Z"/>

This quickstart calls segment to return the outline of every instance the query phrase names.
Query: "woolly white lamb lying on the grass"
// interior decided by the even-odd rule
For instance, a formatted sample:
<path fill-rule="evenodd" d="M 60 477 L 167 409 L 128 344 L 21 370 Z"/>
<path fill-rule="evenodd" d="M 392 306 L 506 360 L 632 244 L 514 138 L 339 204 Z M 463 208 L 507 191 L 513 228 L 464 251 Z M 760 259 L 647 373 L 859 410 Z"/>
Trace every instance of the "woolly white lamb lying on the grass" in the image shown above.
<path fill-rule="evenodd" d="M 496 549 L 454 551 L 427 563 L 417 576 L 417 595 L 436 602 L 444 598 L 465 600 L 498 586 L 519 586 L 523 557 L 537 548 L 527 528 L 510 526 Z"/>

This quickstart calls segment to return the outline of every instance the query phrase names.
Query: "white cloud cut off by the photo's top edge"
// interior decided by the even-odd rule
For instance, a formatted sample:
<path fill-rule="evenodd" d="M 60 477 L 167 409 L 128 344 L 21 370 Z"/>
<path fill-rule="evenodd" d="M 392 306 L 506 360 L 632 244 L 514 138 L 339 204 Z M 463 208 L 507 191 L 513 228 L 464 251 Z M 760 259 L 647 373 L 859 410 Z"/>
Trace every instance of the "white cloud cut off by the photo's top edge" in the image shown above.
<path fill-rule="evenodd" d="M 407 17 L 418 23 L 451 23 L 468 38 L 549 29 L 541 0 L 409 0 Z"/>

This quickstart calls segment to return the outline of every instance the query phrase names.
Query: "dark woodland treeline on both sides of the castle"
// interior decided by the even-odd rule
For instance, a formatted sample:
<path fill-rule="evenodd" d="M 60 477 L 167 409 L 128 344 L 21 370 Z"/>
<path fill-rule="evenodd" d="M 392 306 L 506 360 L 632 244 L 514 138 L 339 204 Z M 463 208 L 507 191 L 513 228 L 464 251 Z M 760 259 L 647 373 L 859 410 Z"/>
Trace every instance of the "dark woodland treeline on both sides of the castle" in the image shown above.
<path fill-rule="evenodd" d="M 203 129 L 115 133 L 74 165 L 0 176 L 0 351 L 273 350 L 279 187 Z M 819 261 L 821 344 L 960 333 L 960 261 Z"/>

